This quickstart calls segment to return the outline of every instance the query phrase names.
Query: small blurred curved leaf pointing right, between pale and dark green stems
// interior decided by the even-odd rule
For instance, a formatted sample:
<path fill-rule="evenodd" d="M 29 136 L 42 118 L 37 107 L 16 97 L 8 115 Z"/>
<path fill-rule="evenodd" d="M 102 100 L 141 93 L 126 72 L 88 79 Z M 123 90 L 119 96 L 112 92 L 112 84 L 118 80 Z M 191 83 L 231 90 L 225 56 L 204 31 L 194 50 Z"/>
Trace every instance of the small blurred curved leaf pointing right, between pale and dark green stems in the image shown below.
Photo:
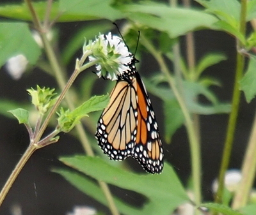
<path fill-rule="evenodd" d="M 198 77 L 200 74 L 208 67 L 220 63 L 220 61 L 226 60 L 227 57 L 224 54 L 205 54 L 202 59 L 200 59 L 198 65 L 196 66 L 196 73 L 198 74 Z"/>

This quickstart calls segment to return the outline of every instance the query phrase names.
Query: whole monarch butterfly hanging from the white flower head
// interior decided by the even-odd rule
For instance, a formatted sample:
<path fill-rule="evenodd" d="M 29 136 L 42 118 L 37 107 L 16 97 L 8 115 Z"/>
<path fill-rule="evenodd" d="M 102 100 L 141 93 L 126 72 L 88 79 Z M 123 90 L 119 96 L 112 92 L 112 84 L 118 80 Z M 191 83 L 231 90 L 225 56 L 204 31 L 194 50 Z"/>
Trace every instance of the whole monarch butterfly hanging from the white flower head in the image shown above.
<path fill-rule="evenodd" d="M 129 69 L 117 76 L 110 101 L 100 115 L 95 137 L 110 159 L 137 159 L 152 174 L 163 170 L 163 147 L 156 116 L 131 54 Z"/>

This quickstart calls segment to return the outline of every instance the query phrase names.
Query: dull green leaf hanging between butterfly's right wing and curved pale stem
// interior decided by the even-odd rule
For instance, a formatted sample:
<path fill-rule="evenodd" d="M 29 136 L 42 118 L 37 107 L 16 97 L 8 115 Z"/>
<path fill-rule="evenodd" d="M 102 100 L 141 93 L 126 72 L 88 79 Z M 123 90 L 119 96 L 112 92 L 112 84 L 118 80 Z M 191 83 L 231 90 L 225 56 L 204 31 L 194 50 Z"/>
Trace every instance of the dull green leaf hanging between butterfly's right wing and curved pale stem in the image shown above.
<path fill-rule="evenodd" d="M 184 115 L 177 100 L 164 101 L 164 138 L 167 143 L 183 123 Z"/>

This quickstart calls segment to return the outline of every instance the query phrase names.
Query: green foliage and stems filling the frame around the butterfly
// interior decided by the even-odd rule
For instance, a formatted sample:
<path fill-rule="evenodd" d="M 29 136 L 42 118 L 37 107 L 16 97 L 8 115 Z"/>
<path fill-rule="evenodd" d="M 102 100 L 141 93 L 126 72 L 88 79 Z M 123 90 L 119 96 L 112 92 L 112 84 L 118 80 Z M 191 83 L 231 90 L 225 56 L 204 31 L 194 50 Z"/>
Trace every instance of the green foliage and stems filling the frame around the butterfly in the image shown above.
<path fill-rule="evenodd" d="M 34 67 L 41 68 L 56 79 L 60 96 L 53 89 L 39 87 L 29 89 L 32 103 L 36 107 L 38 118 L 35 126 L 29 125 L 29 105 L 20 105 L 9 100 L 0 100 L 2 107 L 0 113 L 10 111 L 20 124 L 25 124 L 30 144 L 24 156 L 20 159 L 13 172 L 15 177 L 36 149 L 45 147 L 59 141 L 58 134 L 69 132 L 76 128 L 77 138 L 81 141 L 86 156 L 63 156 L 60 160 L 65 165 L 74 168 L 53 168 L 78 189 L 91 196 L 100 203 L 107 205 L 112 214 L 171 214 L 181 204 L 189 203 L 194 206 L 195 214 L 255 214 L 255 204 L 249 205 L 248 199 L 252 191 L 255 175 L 256 153 L 255 130 L 252 127 L 250 142 L 244 156 L 242 167 L 242 179 L 239 189 L 230 193 L 225 188 L 225 173 L 227 172 L 234 142 L 234 133 L 237 124 L 237 115 L 241 91 L 244 92 L 246 101 L 252 101 L 256 94 L 255 87 L 255 32 L 246 32 L 246 23 L 255 22 L 256 1 L 251 0 L 196 0 L 204 8 L 194 9 L 189 6 L 189 1 L 184 1 L 184 7 L 177 7 L 175 1 L 170 4 L 153 1 L 81 1 L 81 0 L 51 0 L 47 2 L 32 3 L 25 0 L 21 4 L 0 6 L 0 15 L 8 20 L 0 23 L 0 66 L 10 57 L 22 54 L 26 57 L 24 64 L 28 64 L 27 70 Z M 13 21 L 12 19 L 15 19 Z M 143 78 L 150 93 L 163 102 L 164 112 L 164 140 L 170 143 L 173 134 L 180 126 L 184 125 L 188 135 L 191 154 L 191 184 L 190 188 L 183 186 L 169 163 L 165 163 L 164 172 L 161 175 L 135 174 L 124 170 L 122 167 L 114 167 L 112 163 L 104 160 L 104 155 L 98 153 L 93 147 L 95 141 L 88 140 L 88 133 L 93 130 L 97 119 L 90 114 L 89 121 L 84 122 L 86 129 L 79 124 L 81 117 L 88 112 L 101 110 L 108 103 L 108 96 L 91 97 L 95 75 L 87 75 L 81 88 L 83 94 L 78 93 L 76 87 L 70 88 L 81 71 L 99 62 L 84 64 L 86 57 L 92 53 L 90 44 L 83 47 L 84 37 L 95 38 L 100 33 L 113 29 L 111 22 L 125 19 L 124 31 L 122 31 L 130 50 L 136 48 L 136 38 L 140 31 L 140 46 L 136 56 L 140 56 L 143 49 L 156 60 L 160 72 L 152 78 Z M 19 20 L 19 21 L 17 21 Z M 79 22 L 81 20 L 92 21 L 72 36 L 72 39 L 58 53 L 54 50 L 54 40 L 58 38 L 56 23 Z M 97 21 L 100 20 L 101 22 Z M 33 39 L 31 27 L 28 21 L 33 22 L 35 29 L 42 40 L 42 48 Z M 207 77 L 205 69 L 227 59 L 223 54 L 205 54 L 198 62 L 195 60 L 195 39 L 193 31 L 199 29 L 211 29 L 211 31 L 223 31 L 236 38 L 236 75 L 231 105 L 222 103 L 212 92 L 212 85 L 220 85 L 218 77 Z M 53 40 L 47 36 L 53 34 Z M 180 38 L 186 36 L 187 57 L 180 54 Z M 12 42 L 10 42 L 10 40 Z M 85 43 L 88 45 L 88 43 Z M 68 63 L 75 60 L 73 55 L 77 50 L 83 49 L 83 56 L 76 61 L 74 73 L 67 81 Z M 88 52 L 86 52 L 88 51 Z M 44 57 L 40 57 L 45 55 Z M 58 58 L 60 55 L 60 58 Z M 138 58 L 138 57 L 137 57 Z M 248 67 L 245 66 L 248 58 Z M 17 60 L 16 60 L 17 61 Z M 173 71 L 170 65 L 173 65 Z M 67 83 L 67 84 L 66 84 Z M 37 84 L 37 83 L 35 83 Z M 70 91 L 67 91 L 70 88 Z M 76 95 L 77 98 L 74 98 Z M 208 104 L 200 102 L 200 96 L 204 96 Z M 65 103 L 61 103 L 65 97 Z M 88 100 L 88 101 L 86 101 Z M 79 101 L 86 101 L 81 105 Z M 60 105 L 63 108 L 57 109 Z M 67 110 L 69 108 L 70 110 Z M 13 110 L 14 109 L 14 110 Z M 58 110 L 58 125 L 52 133 L 42 138 L 47 126 L 53 126 L 52 115 Z M 200 118 L 199 115 L 229 114 L 227 135 L 220 167 L 218 191 L 215 203 L 206 203 L 202 197 L 202 161 L 200 151 Z M 55 122 L 56 123 L 56 122 Z M 255 123 L 254 123 L 255 124 Z M 72 131 L 71 131 L 72 132 Z M 94 154 L 101 158 L 94 157 Z M 77 171 L 78 170 L 78 171 Z M 88 177 L 90 176 L 90 177 Z M 0 194 L 0 205 L 15 177 L 11 175 Z M 97 182 L 92 181 L 96 179 Z M 99 184 L 99 187 L 97 186 Z M 113 184 L 119 188 L 129 189 L 147 197 L 147 203 L 142 208 L 136 208 L 114 197 L 109 191 L 108 185 Z M 186 193 L 191 189 L 193 198 Z M 232 199 L 232 204 L 228 205 Z M 203 207 L 209 211 L 205 212 Z"/>

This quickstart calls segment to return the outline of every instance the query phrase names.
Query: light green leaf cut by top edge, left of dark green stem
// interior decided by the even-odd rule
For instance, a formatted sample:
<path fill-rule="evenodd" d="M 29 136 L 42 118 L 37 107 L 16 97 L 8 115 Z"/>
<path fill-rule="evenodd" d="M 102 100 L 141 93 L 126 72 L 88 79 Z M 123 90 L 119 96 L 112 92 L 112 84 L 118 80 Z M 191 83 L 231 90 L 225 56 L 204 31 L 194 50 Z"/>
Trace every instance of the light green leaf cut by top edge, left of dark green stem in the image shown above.
<path fill-rule="evenodd" d="M 195 0 L 202 4 L 207 11 L 215 15 L 219 15 L 221 20 L 225 20 L 229 24 L 238 23 L 240 20 L 241 4 L 237 0 Z"/>

